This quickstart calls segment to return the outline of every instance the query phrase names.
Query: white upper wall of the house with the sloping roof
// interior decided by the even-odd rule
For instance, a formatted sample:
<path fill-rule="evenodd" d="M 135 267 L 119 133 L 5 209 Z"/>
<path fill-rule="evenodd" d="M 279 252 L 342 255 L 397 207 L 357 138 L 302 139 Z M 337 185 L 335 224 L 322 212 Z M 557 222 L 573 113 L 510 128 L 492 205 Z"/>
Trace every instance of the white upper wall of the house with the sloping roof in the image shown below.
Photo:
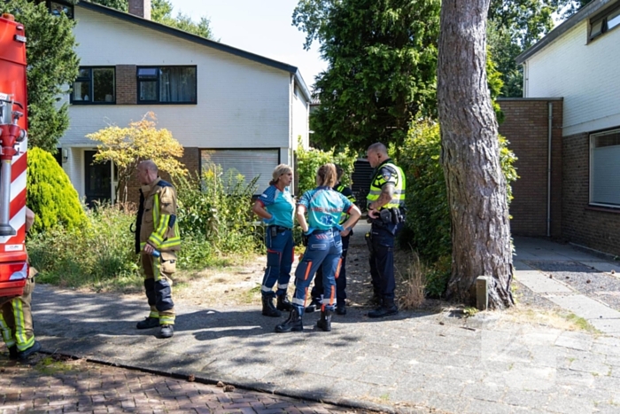
<path fill-rule="evenodd" d="M 196 65 L 198 105 L 72 105 L 61 145 L 91 146 L 87 134 L 152 111 L 187 147 L 288 147 L 290 73 L 80 7 L 75 14 L 81 66 Z"/>

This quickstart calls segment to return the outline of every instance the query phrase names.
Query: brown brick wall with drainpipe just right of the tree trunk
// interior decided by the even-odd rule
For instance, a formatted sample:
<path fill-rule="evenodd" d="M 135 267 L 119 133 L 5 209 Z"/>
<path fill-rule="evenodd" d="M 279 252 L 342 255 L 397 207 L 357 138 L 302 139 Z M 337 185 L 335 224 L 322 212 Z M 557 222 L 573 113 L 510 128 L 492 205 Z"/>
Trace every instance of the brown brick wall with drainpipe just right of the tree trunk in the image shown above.
<path fill-rule="evenodd" d="M 503 98 L 506 117 L 500 134 L 515 152 L 520 178 L 512 184 L 511 231 L 515 236 L 546 237 L 548 104 L 553 104 L 551 237 L 562 238 L 562 99 Z"/>

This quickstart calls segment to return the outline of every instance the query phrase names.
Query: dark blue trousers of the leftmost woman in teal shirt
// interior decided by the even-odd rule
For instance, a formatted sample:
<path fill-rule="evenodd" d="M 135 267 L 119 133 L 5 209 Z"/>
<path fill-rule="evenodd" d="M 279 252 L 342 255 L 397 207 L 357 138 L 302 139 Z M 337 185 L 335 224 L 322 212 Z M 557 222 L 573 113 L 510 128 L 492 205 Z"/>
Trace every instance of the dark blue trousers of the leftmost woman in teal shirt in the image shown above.
<path fill-rule="evenodd" d="M 289 280 L 291 280 L 291 267 L 295 255 L 293 232 L 279 226 L 269 226 L 266 231 L 267 269 L 265 269 L 260 291 L 263 295 L 273 295 L 274 285 L 277 282 L 276 294 L 286 294 Z"/>

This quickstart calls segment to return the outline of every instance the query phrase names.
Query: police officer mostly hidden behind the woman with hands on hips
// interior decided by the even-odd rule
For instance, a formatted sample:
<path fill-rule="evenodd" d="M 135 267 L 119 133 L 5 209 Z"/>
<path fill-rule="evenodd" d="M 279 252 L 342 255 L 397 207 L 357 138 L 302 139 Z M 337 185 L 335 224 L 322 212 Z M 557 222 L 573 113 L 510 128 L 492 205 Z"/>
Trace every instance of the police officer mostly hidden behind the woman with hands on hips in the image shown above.
<path fill-rule="evenodd" d="M 351 191 L 351 188 L 341 183 L 342 176 L 345 173 L 345 170 L 337 165 L 336 173 L 338 182 L 334 186 L 334 190 L 344 195 L 347 199 L 349 199 L 349 201 L 354 204 L 355 197 L 353 196 L 353 191 Z M 343 213 L 343 215 L 340 217 L 340 224 L 345 223 L 348 218 L 349 215 Z M 353 230 L 351 230 L 350 232 L 341 231 L 340 235 L 342 237 L 342 261 L 340 263 L 340 273 L 338 274 L 338 278 L 336 279 L 336 313 L 337 315 L 346 315 L 346 253 L 349 250 L 349 238 L 353 236 Z M 314 278 L 314 287 L 312 288 L 312 292 L 310 294 L 312 297 L 312 302 L 310 303 L 310 306 L 306 308 L 306 312 L 314 312 L 315 309 L 321 308 L 321 295 L 323 294 L 322 267 L 317 269 L 316 271 L 316 277 Z"/>

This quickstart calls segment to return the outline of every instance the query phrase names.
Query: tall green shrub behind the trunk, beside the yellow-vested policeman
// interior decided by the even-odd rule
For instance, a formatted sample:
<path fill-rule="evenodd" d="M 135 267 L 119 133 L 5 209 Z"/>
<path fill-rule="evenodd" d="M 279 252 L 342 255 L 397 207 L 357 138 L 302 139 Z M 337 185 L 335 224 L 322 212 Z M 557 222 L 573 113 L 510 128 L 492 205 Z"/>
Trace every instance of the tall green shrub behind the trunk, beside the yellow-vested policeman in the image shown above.
<path fill-rule="evenodd" d="M 518 176 L 515 153 L 500 136 L 501 168 L 508 184 L 508 202 L 512 199 L 510 183 Z M 400 233 L 401 244 L 411 246 L 424 262 L 432 263 L 426 279 L 426 291 L 440 296 L 450 276 L 452 254 L 450 210 L 446 180 L 439 157 L 441 136 L 438 123 L 422 121 L 409 130 L 400 149 L 399 164 L 407 175 L 407 222 Z"/>

